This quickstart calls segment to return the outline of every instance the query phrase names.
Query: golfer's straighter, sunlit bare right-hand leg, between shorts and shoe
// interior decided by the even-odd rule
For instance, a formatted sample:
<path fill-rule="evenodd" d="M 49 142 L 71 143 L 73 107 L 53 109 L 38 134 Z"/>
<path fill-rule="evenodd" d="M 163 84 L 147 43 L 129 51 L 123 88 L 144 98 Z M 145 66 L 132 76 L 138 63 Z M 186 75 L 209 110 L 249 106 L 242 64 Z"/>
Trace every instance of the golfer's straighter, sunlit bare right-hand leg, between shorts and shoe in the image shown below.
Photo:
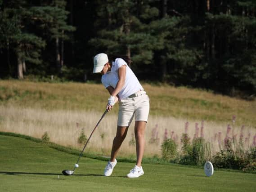
<path fill-rule="evenodd" d="M 144 147 L 145 147 L 145 138 L 144 133 L 146 129 L 146 122 L 145 121 L 136 121 L 135 122 L 135 139 L 136 139 L 136 154 L 137 154 L 137 166 L 141 166 L 141 161 L 144 154 Z"/>

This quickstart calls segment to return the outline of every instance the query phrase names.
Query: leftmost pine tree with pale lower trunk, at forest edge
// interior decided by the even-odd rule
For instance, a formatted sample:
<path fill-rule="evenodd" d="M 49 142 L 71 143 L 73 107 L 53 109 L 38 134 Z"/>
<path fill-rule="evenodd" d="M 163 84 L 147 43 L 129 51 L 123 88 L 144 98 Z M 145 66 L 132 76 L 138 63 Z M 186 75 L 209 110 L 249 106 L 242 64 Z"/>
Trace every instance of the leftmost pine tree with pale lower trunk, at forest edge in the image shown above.
<path fill-rule="evenodd" d="M 0 39 L 4 39 L 5 44 L 8 45 L 8 53 L 9 49 L 15 52 L 17 76 L 18 79 L 23 79 L 25 62 L 40 63 L 40 50 L 45 46 L 45 41 L 29 33 L 31 13 L 25 0 L 10 0 L 1 6 L 1 18 L 4 21 L 0 25 L 2 31 Z"/>

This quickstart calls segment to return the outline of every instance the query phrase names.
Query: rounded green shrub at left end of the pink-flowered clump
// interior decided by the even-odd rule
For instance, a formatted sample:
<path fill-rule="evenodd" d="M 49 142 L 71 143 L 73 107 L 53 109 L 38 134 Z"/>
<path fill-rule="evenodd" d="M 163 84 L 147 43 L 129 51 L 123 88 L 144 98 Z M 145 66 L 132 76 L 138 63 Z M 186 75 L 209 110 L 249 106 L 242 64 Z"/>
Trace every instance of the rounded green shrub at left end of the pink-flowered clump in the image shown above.
<path fill-rule="evenodd" d="M 161 145 L 162 158 L 166 161 L 171 161 L 175 159 L 177 155 L 177 144 L 174 140 L 166 139 Z"/>

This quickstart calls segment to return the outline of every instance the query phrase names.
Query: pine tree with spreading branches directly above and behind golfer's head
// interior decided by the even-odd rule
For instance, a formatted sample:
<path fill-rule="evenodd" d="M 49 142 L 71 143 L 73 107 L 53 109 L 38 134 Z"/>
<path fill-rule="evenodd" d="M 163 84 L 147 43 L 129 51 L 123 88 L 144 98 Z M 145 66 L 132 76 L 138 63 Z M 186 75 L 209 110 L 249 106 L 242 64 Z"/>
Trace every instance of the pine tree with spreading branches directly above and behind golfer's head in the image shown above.
<path fill-rule="evenodd" d="M 125 54 L 133 64 L 152 63 L 157 39 L 151 36 L 147 23 L 157 18 L 158 9 L 143 0 L 97 1 L 98 36 L 90 43 L 108 54 Z M 152 1 L 151 1 L 152 2 Z"/>

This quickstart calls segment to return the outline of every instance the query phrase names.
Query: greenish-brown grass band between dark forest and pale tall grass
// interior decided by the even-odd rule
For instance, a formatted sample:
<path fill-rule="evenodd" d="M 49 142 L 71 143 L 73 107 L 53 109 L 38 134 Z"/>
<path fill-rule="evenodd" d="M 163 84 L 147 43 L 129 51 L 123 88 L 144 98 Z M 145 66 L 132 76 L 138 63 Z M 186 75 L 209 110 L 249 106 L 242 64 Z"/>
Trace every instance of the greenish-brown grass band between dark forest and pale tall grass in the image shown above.
<path fill-rule="evenodd" d="M 229 122 L 235 115 L 237 125 L 256 125 L 256 100 L 169 85 L 143 87 L 150 97 L 151 115 L 221 123 Z M 100 84 L 0 80 L 0 104 L 6 106 L 101 112 L 107 98 L 108 91 Z M 114 107 L 112 113 L 117 110 Z"/>

